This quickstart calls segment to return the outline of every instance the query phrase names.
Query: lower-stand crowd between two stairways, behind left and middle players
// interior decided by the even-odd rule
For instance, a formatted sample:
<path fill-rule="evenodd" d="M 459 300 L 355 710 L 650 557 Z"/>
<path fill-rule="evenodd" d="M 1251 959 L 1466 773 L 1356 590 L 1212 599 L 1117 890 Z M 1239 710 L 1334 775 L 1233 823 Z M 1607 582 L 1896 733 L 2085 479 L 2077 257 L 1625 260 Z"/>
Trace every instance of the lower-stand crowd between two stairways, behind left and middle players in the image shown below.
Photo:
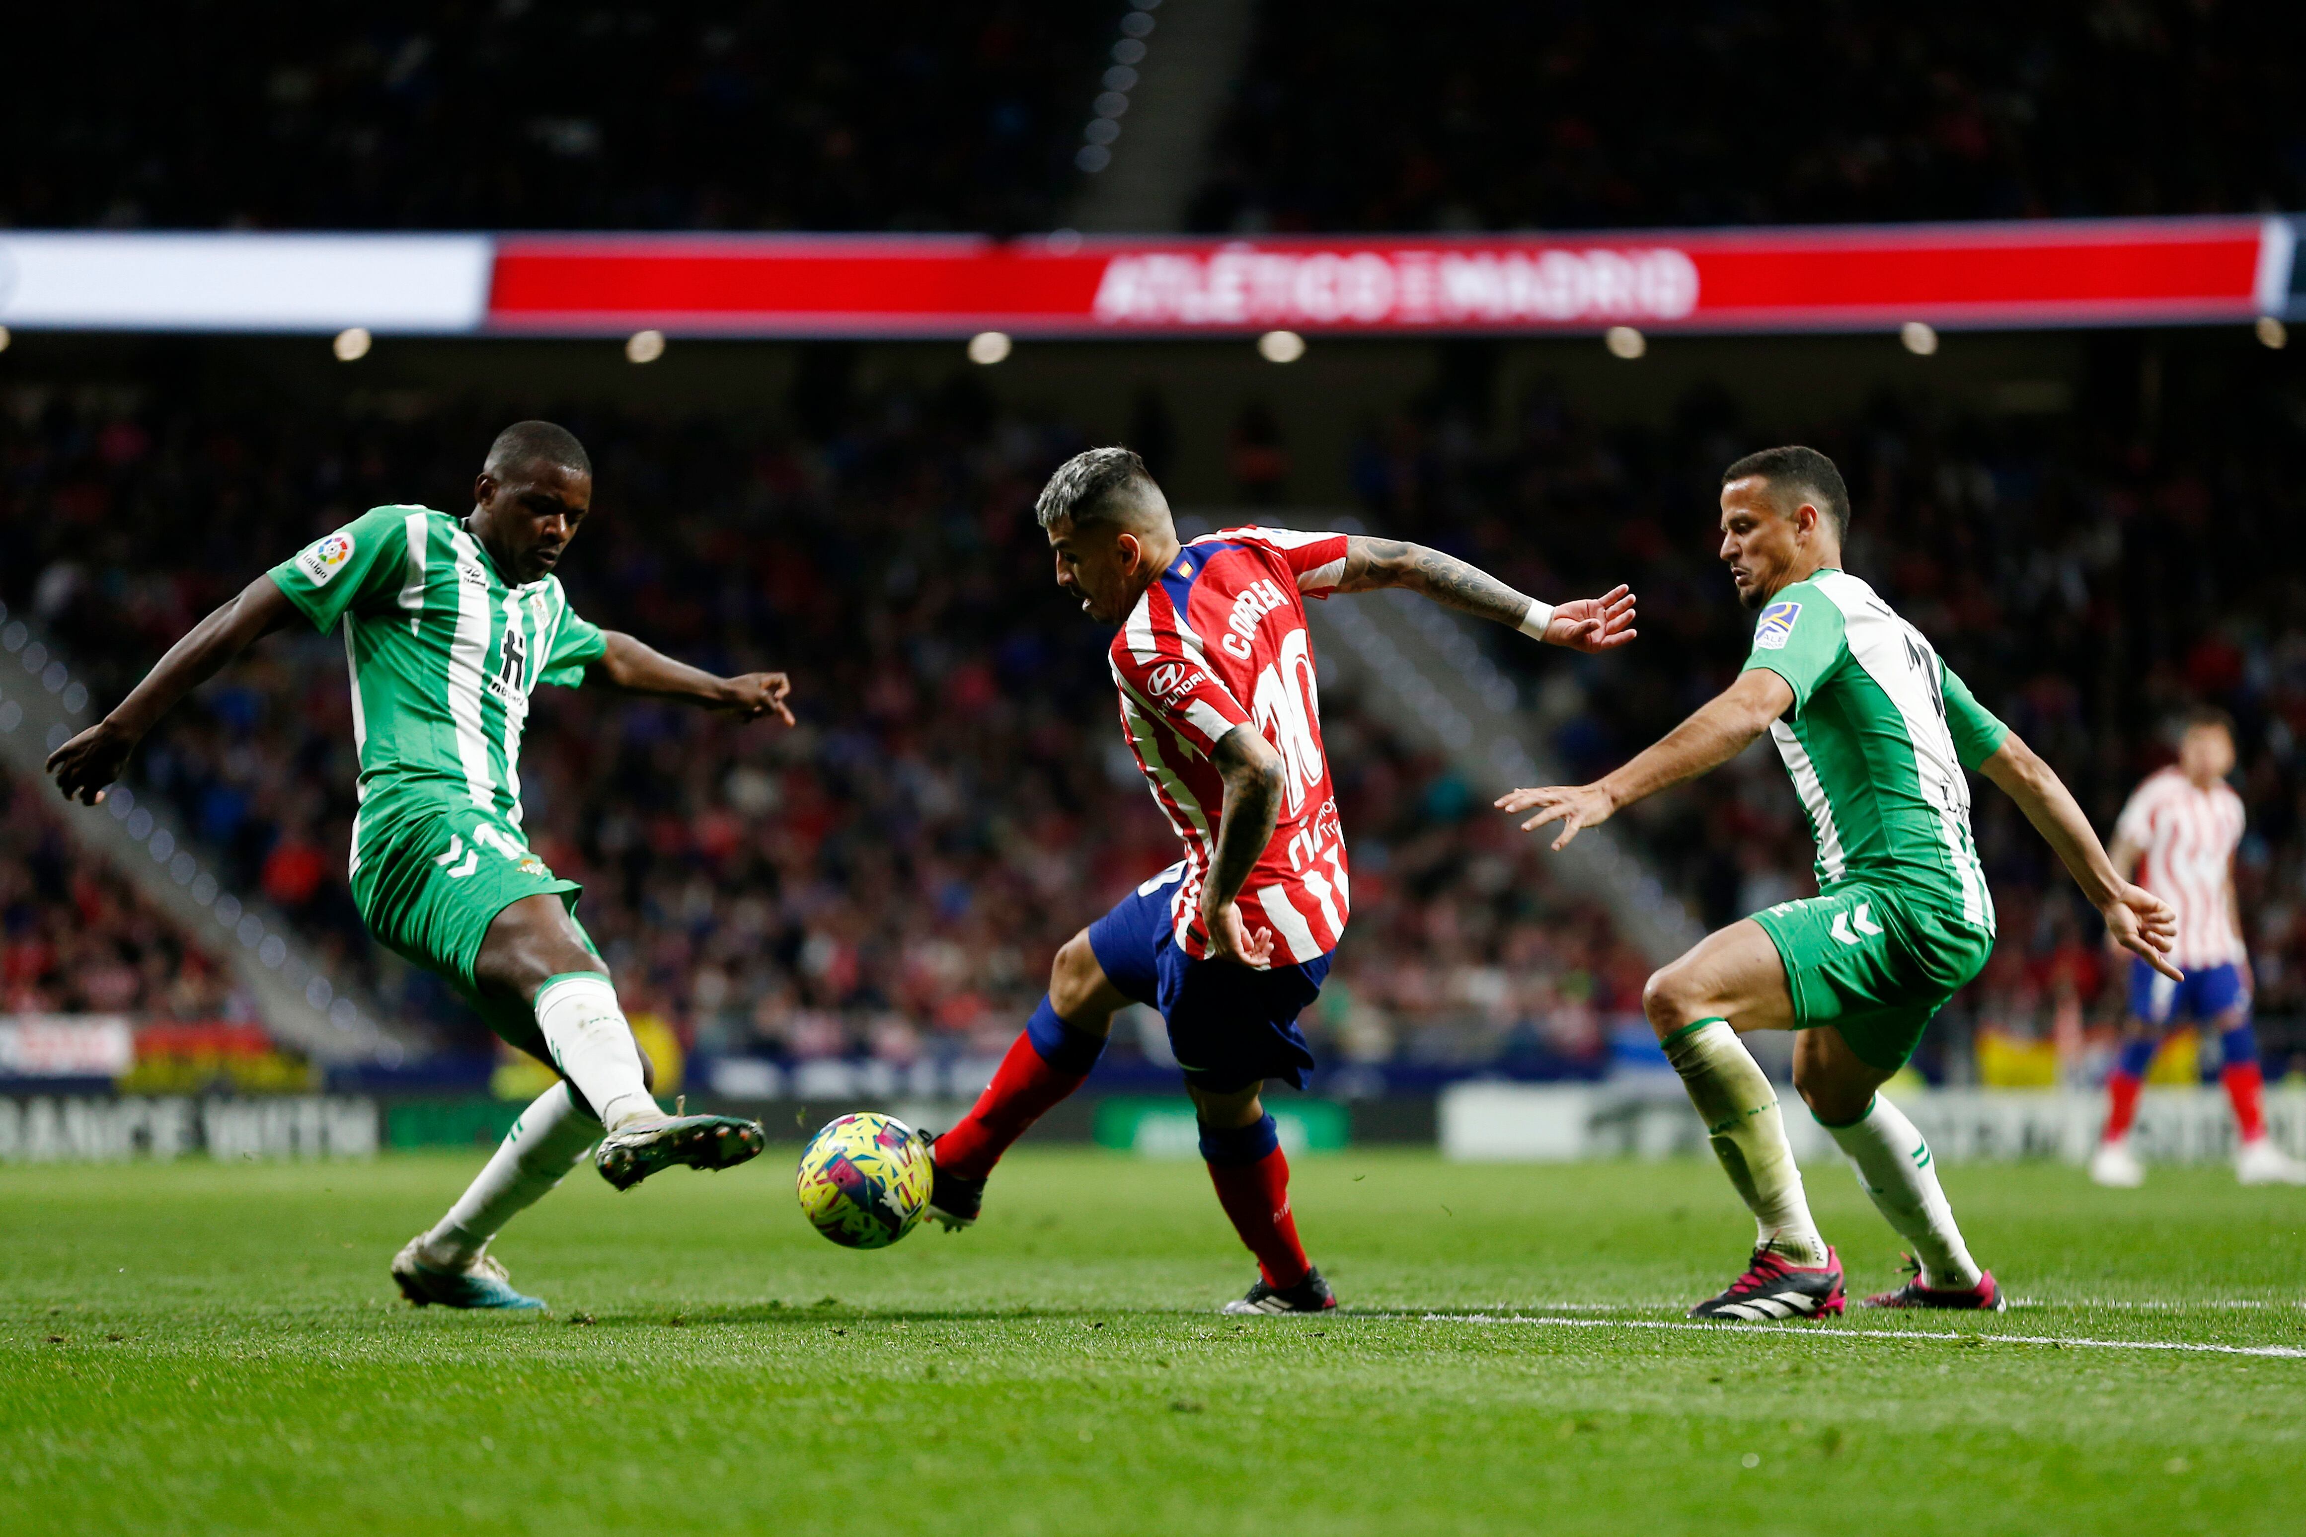
<path fill-rule="evenodd" d="M 498 426 L 37 389 L 7 419 L 0 599 L 55 634 L 99 705 L 314 535 L 378 502 L 459 509 Z M 1176 857 L 1121 740 L 1105 634 L 1054 590 L 1031 518 L 1079 436 L 998 415 L 964 376 L 858 401 L 821 438 L 570 424 L 600 484 L 563 571 L 576 608 L 703 666 L 786 668 L 802 719 L 540 691 L 526 827 L 586 883 L 627 1005 L 717 1055 L 998 1053 L 1056 945 Z M 1312 1021 L 1324 1055 L 1598 1072 L 1640 956 L 1379 710 L 1333 687 L 1324 717 L 1354 850 L 1351 938 Z M 353 913 L 332 638 L 265 641 L 129 779 L 339 975 L 443 1044 L 484 1044 Z"/>

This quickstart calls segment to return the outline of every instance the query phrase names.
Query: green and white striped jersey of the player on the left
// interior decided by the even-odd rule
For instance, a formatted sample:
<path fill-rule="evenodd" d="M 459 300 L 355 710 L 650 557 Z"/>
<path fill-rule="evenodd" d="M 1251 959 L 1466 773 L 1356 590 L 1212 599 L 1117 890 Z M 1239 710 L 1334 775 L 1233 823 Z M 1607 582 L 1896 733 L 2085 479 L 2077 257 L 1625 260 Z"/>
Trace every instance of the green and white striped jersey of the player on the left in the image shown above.
<path fill-rule="evenodd" d="M 376 507 L 272 567 L 314 629 L 344 624 L 364 830 L 461 804 L 521 825 L 521 728 L 540 682 L 579 684 L 606 643 L 558 576 L 512 585 L 464 523 Z"/>

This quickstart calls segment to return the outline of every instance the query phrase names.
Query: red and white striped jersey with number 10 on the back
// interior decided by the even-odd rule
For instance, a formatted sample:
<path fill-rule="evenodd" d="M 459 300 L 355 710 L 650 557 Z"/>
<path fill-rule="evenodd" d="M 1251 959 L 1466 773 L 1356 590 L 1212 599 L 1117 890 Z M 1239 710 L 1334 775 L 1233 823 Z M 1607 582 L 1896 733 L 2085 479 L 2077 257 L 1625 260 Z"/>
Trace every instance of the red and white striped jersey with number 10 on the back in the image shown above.
<path fill-rule="evenodd" d="M 1344 827 L 1321 751 L 1321 694 L 1305 634 L 1305 595 L 1335 590 L 1344 546 L 1344 535 L 1284 528 L 1227 528 L 1195 539 L 1114 636 L 1121 730 L 1185 843 L 1185 878 L 1169 915 L 1176 942 L 1195 959 L 1208 954 L 1201 880 L 1224 809 L 1224 779 L 1208 754 L 1243 724 L 1280 751 L 1287 788 L 1273 841 L 1241 887 L 1241 917 L 1252 931 L 1273 931 L 1275 961 L 1312 961 L 1344 938 Z"/>

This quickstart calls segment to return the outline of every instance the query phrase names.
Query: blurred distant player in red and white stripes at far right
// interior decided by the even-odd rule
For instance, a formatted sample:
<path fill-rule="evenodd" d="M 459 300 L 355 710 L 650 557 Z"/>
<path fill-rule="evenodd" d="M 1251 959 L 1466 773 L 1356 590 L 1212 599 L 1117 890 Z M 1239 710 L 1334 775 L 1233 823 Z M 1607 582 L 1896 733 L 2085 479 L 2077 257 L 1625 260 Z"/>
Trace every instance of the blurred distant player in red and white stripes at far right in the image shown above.
<path fill-rule="evenodd" d="M 2235 1173 L 2244 1184 L 2306 1184 L 2306 1166 L 2267 1138 L 2260 1104 L 2258 1037 L 2251 1030 L 2251 956 L 2241 940 L 2235 896 L 2235 848 L 2244 811 L 2225 777 L 2235 772 L 2235 728 L 2221 710 L 2186 719 L 2177 763 L 2149 774 L 2115 823 L 2115 869 L 2138 869 L 2138 885 L 2177 908 L 2170 961 L 2184 972 L 2172 982 L 2142 961 L 2131 963 L 2131 1030 L 2105 1078 L 2105 1134 L 2089 1159 L 2098 1184 L 2131 1187 L 2145 1166 L 2131 1150 L 2138 1088 L 2172 1019 L 2186 1016 L 2205 1035 L 2218 1032 L 2225 1092 L 2235 1101 L 2241 1150 Z"/>

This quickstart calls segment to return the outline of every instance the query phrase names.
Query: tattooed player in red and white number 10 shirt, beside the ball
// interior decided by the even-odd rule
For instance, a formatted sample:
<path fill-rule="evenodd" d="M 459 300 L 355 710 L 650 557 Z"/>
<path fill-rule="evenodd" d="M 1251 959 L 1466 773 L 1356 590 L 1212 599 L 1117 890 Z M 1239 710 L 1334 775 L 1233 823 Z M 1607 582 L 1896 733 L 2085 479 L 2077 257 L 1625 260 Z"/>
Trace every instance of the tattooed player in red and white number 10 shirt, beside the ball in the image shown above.
<path fill-rule="evenodd" d="M 1462 560 L 1358 535 L 1229 528 L 1181 544 L 1130 449 L 1068 459 L 1035 505 L 1056 585 L 1118 627 L 1121 728 L 1185 857 L 1072 936 L 992 1085 L 934 1143 L 929 1214 L 978 1219 L 994 1161 L 1077 1090 L 1114 1012 L 1160 1009 L 1224 1214 L 1257 1256 L 1227 1313 L 1335 1307 L 1289 1214 L 1289 1164 L 1259 1092 L 1305 1083 L 1296 1025 L 1344 936 L 1351 878 L 1321 749 L 1305 597 L 1409 588 L 1577 650 L 1633 641 L 1633 595 L 1552 608 Z"/>

